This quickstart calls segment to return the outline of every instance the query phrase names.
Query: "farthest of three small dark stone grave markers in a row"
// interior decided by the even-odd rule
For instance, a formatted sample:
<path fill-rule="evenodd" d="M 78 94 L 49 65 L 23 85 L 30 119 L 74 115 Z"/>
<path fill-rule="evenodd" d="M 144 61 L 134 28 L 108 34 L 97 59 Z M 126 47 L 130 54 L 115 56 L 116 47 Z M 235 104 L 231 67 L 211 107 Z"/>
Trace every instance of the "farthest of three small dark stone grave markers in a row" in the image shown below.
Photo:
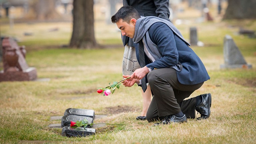
<path fill-rule="evenodd" d="M 78 116 L 86 116 L 86 117 L 91 117 L 94 119 L 95 114 L 94 110 L 89 110 L 89 109 L 74 109 L 74 108 L 68 108 L 64 112 L 64 115 L 78 115 Z"/>

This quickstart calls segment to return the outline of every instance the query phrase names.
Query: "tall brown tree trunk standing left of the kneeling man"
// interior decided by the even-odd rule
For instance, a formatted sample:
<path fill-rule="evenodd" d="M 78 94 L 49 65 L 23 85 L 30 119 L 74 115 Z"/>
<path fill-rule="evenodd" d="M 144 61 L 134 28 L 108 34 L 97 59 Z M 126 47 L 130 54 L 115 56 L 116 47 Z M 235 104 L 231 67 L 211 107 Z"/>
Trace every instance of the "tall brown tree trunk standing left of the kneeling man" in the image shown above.
<path fill-rule="evenodd" d="M 93 0 L 74 0 L 73 7 L 70 47 L 90 49 L 97 46 L 94 36 Z"/>

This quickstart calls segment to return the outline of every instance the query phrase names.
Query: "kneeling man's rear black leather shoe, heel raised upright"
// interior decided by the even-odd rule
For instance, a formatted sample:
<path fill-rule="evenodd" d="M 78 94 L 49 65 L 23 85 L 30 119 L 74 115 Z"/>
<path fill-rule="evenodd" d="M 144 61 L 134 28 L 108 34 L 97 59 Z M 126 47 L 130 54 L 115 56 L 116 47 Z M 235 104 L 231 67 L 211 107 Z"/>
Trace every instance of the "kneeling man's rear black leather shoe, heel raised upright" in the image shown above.
<path fill-rule="evenodd" d="M 200 95 L 202 98 L 202 102 L 196 107 L 196 111 L 198 111 L 201 116 L 197 118 L 200 119 L 207 119 L 211 114 L 211 105 L 212 105 L 212 96 L 210 93 Z"/>

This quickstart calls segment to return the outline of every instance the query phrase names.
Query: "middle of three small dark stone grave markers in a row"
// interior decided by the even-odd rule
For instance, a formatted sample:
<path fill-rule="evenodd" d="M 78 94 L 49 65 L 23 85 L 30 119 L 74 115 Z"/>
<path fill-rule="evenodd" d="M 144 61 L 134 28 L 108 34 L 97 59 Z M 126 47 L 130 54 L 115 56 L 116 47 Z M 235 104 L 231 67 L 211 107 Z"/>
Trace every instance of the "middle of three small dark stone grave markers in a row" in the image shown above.
<path fill-rule="evenodd" d="M 93 118 L 91 117 L 85 117 L 85 116 L 77 116 L 77 115 L 64 115 L 61 119 L 61 127 L 70 126 L 70 122 L 76 122 L 76 121 L 82 121 L 82 120 L 88 120 L 88 123 L 93 123 Z M 88 125 L 87 127 L 90 127 Z"/>

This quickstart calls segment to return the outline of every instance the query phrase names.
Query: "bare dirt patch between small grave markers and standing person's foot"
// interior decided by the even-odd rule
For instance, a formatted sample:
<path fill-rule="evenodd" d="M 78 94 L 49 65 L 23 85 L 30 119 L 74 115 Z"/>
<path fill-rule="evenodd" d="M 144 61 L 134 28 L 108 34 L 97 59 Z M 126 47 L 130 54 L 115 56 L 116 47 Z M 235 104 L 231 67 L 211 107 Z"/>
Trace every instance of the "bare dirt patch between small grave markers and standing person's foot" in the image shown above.
<path fill-rule="evenodd" d="M 104 109 L 105 114 L 118 114 L 122 112 L 130 112 L 130 111 L 136 111 L 138 108 L 132 107 L 132 106 L 115 106 L 115 107 L 106 107 Z"/>

